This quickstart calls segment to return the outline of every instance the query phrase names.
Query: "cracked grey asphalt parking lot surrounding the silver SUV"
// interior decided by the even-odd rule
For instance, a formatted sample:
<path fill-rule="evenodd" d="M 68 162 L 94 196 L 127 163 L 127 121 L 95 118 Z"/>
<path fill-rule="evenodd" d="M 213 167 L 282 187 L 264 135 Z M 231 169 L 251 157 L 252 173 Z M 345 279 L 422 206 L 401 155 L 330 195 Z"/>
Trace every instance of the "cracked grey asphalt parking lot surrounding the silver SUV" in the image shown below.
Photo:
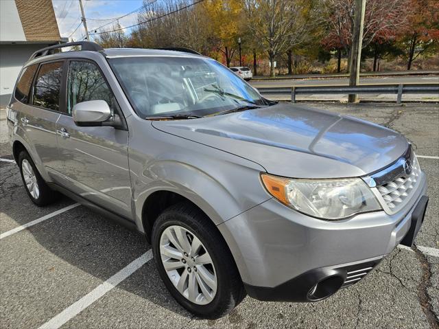
<path fill-rule="evenodd" d="M 430 197 L 416 248 L 396 248 L 364 280 L 322 302 L 246 297 L 227 317 L 198 319 L 167 293 L 141 235 L 83 206 L 65 210 L 69 198 L 43 208 L 29 200 L 1 110 L 0 328 L 439 328 L 438 104 L 306 105 L 383 124 L 412 141 Z M 17 230 L 38 218 L 47 219 Z"/>

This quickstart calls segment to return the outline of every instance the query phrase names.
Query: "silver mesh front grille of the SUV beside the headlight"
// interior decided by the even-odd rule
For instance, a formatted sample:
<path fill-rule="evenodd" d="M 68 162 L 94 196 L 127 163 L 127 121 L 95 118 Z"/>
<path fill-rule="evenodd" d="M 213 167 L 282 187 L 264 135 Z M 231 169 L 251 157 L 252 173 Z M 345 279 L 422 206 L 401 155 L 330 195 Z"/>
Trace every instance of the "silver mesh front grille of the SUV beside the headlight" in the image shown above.
<path fill-rule="evenodd" d="M 385 205 L 388 206 L 390 212 L 393 214 L 398 212 L 405 202 L 410 200 L 410 197 L 416 191 L 420 177 L 420 166 L 416 157 L 413 161 L 413 170 L 410 175 L 406 177 L 399 177 L 377 186 L 379 194 L 381 194 Z"/>

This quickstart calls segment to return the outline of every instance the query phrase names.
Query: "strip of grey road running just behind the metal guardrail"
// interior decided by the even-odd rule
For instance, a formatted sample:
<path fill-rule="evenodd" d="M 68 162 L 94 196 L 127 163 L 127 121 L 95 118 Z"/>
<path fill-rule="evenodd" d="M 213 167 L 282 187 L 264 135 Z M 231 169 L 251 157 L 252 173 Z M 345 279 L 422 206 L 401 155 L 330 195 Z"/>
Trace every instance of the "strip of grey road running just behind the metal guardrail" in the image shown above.
<path fill-rule="evenodd" d="M 314 85 L 348 85 L 348 78 L 311 78 L 282 80 L 250 80 L 253 87 L 292 87 Z M 380 78 L 360 78 L 360 84 L 394 84 L 394 83 L 438 83 L 439 76 L 385 76 Z"/>

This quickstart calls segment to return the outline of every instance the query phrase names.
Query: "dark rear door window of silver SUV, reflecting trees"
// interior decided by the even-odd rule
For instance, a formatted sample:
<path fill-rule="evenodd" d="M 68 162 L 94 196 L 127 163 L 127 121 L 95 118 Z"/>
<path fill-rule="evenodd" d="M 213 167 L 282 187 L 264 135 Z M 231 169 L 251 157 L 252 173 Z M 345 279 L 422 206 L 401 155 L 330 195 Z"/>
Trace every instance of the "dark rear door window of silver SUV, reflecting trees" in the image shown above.
<path fill-rule="evenodd" d="M 54 62 L 41 65 L 34 87 L 34 105 L 59 111 L 63 64 Z"/>

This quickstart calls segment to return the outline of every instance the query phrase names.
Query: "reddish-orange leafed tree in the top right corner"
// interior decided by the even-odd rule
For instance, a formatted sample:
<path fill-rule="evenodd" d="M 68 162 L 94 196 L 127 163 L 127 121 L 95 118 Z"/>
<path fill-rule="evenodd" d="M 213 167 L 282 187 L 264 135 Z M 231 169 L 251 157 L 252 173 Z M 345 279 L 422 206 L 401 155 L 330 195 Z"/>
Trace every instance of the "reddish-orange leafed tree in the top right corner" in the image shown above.
<path fill-rule="evenodd" d="M 407 69 L 420 54 L 437 52 L 439 46 L 439 1 L 410 0 L 408 24 L 401 30 L 399 45 L 407 58 Z"/>

